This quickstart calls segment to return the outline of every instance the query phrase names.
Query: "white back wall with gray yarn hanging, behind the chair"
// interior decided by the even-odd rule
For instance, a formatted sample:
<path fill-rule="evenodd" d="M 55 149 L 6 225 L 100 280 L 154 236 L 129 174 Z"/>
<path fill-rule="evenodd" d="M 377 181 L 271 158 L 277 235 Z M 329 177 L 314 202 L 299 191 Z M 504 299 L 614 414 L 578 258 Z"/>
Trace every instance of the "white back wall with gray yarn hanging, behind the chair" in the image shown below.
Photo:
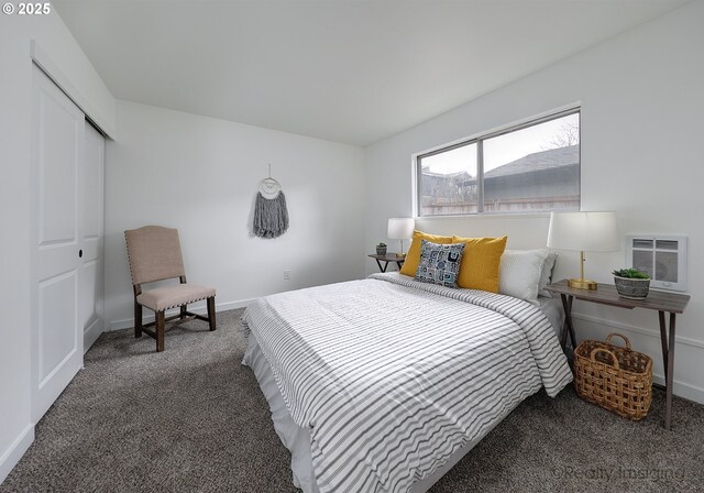
<path fill-rule="evenodd" d="M 118 124 L 106 158 L 110 327 L 132 327 L 123 232 L 144 224 L 179 230 L 188 281 L 216 287 L 218 309 L 364 274 L 361 147 L 125 101 Z M 265 240 L 251 224 L 268 163 L 290 228 Z"/>

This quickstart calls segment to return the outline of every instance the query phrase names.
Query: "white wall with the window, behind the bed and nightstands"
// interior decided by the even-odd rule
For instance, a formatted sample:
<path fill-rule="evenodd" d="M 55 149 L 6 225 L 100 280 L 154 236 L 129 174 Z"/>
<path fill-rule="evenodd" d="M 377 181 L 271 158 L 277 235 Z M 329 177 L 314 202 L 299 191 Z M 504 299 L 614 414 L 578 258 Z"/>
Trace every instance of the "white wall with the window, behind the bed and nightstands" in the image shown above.
<path fill-rule="evenodd" d="M 574 102 L 582 105 L 582 208 L 617 210 L 623 234 L 684 233 L 692 299 L 678 318 L 675 386 L 704 402 L 704 1 L 685 4 L 514 84 L 367 149 L 366 248 L 386 235 L 386 218 L 409 216 L 411 154 Z M 395 184 L 389 186 L 389 184 Z M 549 218 L 424 219 L 430 232 L 508 234 L 510 248 L 544 246 Z M 578 273 L 561 252 L 558 276 Z M 609 282 L 625 251 L 590 254 L 586 272 Z M 367 272 L 375 266 L 367 263 Z M 662 379 L 657 313 L 576 303 L 581 337 L 616 328 L 653 357 Z M 676 416 L 676 409 L 675 409 Z"/>

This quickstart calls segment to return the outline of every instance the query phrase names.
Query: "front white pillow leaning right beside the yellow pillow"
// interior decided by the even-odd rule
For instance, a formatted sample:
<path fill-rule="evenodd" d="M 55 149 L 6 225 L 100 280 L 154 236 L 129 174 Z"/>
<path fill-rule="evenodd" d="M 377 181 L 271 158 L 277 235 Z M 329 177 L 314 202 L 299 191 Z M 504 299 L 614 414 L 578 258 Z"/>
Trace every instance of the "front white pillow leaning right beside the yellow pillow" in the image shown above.
<path fill-rule="evenodd" d="M 544 249 L 505 250 L 498 274 L 498 292 L 539 305 L 540 274 L 548 253 Z"/>

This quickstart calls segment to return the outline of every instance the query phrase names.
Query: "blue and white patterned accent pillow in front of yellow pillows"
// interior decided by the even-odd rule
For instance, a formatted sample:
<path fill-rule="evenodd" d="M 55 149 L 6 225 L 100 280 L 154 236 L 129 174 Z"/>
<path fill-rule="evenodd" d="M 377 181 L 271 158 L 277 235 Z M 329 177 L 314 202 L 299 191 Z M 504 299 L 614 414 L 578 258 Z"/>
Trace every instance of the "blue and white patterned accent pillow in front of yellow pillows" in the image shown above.
<path fill-rule="evenodd" d="M 464 243 L 439 244 L 422 240 L 416 281 L 458 287 L 460 261 Z"/>

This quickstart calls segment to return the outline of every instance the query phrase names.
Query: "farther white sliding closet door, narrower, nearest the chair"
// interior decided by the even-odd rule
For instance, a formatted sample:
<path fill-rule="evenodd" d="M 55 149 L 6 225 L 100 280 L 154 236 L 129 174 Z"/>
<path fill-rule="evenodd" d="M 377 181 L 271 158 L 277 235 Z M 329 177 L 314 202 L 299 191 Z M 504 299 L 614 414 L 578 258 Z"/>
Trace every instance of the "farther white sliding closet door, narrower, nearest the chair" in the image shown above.
<path fill-rule="evenodd" d="M 86 122 L 85 166 L 82 179 L 84 220 L 79 294 L 80 327 L 84 329 L 84 353 L 90 349 L 103 329 L 102 305 L 102 233 L 103 177 L 106 140 Z"/>

